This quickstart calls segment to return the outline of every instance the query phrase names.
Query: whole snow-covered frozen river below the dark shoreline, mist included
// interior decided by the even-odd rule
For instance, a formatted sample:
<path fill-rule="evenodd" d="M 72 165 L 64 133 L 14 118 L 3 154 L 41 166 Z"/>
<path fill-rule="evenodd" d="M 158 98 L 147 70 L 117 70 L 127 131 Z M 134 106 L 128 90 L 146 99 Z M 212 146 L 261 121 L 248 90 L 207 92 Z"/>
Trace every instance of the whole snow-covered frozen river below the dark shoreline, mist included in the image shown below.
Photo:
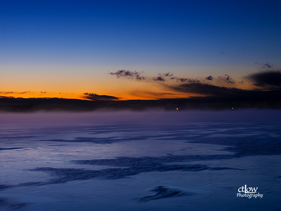
<path fill-rule="evenodd" d="M 0 209 L 277 211 L 280 120 L 280 110 L 0 113 Z"/>

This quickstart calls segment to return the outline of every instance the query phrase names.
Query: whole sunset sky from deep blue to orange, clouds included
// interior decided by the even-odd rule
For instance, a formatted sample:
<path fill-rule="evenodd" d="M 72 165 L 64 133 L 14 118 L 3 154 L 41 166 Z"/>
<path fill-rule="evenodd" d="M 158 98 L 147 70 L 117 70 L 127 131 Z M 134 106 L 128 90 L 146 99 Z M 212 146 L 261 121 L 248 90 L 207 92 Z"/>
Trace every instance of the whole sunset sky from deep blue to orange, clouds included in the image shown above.
<path fill-rule="evenodd" d="M 0 0 L 0 99 L 280 89 L 280 8 L 280 0 Z"/>

